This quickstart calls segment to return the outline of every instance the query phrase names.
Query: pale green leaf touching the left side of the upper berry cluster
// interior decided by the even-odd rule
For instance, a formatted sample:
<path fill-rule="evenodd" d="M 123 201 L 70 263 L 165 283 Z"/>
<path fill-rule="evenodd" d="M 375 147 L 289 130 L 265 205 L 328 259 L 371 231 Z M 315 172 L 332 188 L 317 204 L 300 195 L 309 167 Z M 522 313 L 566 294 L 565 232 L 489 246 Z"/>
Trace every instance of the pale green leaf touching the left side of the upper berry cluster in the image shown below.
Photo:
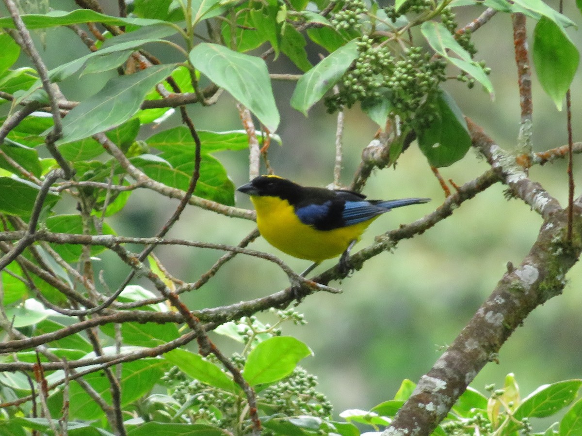
<path fill-rule="evenodd" d="M 357 55 L 357 41 L 350 41 L 303 74 L 293 91 L 291 106 L 307 116 L 311 106 L 331 90 Z"/>

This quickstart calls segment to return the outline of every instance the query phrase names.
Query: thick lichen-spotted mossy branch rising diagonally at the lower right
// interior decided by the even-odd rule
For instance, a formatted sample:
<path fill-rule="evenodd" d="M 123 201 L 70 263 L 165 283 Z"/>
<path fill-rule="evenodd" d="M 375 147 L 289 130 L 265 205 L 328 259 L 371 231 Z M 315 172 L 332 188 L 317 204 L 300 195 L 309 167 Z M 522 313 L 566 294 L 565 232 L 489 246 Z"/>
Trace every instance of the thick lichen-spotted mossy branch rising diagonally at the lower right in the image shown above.
<path fill-rule="evenodd" d="M 580 207 L 574 215 L 576 237 L 567 244 L 566 211 L 549 214 L 521 265 L 508 268 L 473 319 L 421 378 L 384 436 L 431 434 L 482 367 L 496 359 L 503 343 L 530 312 L 562 293 L 566 273 L 582 252 Z"/>

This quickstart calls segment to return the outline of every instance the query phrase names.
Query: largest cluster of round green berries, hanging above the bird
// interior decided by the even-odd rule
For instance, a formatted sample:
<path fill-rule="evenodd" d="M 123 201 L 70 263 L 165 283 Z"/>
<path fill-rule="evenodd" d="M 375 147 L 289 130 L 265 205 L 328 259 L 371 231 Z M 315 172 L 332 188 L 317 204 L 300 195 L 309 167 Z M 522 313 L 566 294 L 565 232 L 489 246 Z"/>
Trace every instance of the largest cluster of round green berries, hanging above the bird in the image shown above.
<path fill-rule="evenodd" d="M 411 47 L 396 60 L 386 45 L 374 45 L 367 35 L 361 37 L 358 51 L 353 69 L 339 84 L 339 93 L 325 100 L 328 112 L 382 95 L 411 128 L 432 120 L 439 84 L 446 80 L 443 60 L 431 60 L 421 47 Z"/>

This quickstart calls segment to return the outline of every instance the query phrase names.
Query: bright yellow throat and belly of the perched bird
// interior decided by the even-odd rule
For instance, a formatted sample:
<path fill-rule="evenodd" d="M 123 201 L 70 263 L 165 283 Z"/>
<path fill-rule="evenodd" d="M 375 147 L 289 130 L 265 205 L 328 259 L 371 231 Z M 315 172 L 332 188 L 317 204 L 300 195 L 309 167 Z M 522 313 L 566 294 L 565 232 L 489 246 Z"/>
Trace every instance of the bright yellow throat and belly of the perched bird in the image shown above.
<path fill-rule="evenodd" d="M 279 198 L 253 196 L 257 226 L 262 237 L 275 248 L 300 259 L 321 262 L 343 253 L 372 220 L 333 230 L 316 230 L 303 224 L 293 206 Z"/>

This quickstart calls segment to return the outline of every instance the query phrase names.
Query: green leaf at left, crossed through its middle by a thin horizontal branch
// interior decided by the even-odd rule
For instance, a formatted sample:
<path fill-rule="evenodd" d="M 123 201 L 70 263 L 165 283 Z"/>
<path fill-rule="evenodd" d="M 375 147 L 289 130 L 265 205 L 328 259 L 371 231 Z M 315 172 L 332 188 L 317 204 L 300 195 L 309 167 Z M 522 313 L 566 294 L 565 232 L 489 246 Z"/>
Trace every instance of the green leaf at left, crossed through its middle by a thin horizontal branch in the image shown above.
<path fill-rule="evenodd" d="M 69 233 L 80 235 L 83 234 L 83 220 L 80 215 L 55 215 L 47 218 L 47 228 L 54 233 Z M 91 222 L 91 234 L 96 235 L 97 230 L 95 225 Z M 107 223 L 103 223 L 103 233 L 106 235 L 114 235 L 115 231 Z M 83 251 L 83 246 L 80 244 L 52 244 L 52 248 L 61 255 L 66 262 L 77 262 Z M 98 255 L 105 250 L 104 246 L 91 246 L 91 256 Z"/>

